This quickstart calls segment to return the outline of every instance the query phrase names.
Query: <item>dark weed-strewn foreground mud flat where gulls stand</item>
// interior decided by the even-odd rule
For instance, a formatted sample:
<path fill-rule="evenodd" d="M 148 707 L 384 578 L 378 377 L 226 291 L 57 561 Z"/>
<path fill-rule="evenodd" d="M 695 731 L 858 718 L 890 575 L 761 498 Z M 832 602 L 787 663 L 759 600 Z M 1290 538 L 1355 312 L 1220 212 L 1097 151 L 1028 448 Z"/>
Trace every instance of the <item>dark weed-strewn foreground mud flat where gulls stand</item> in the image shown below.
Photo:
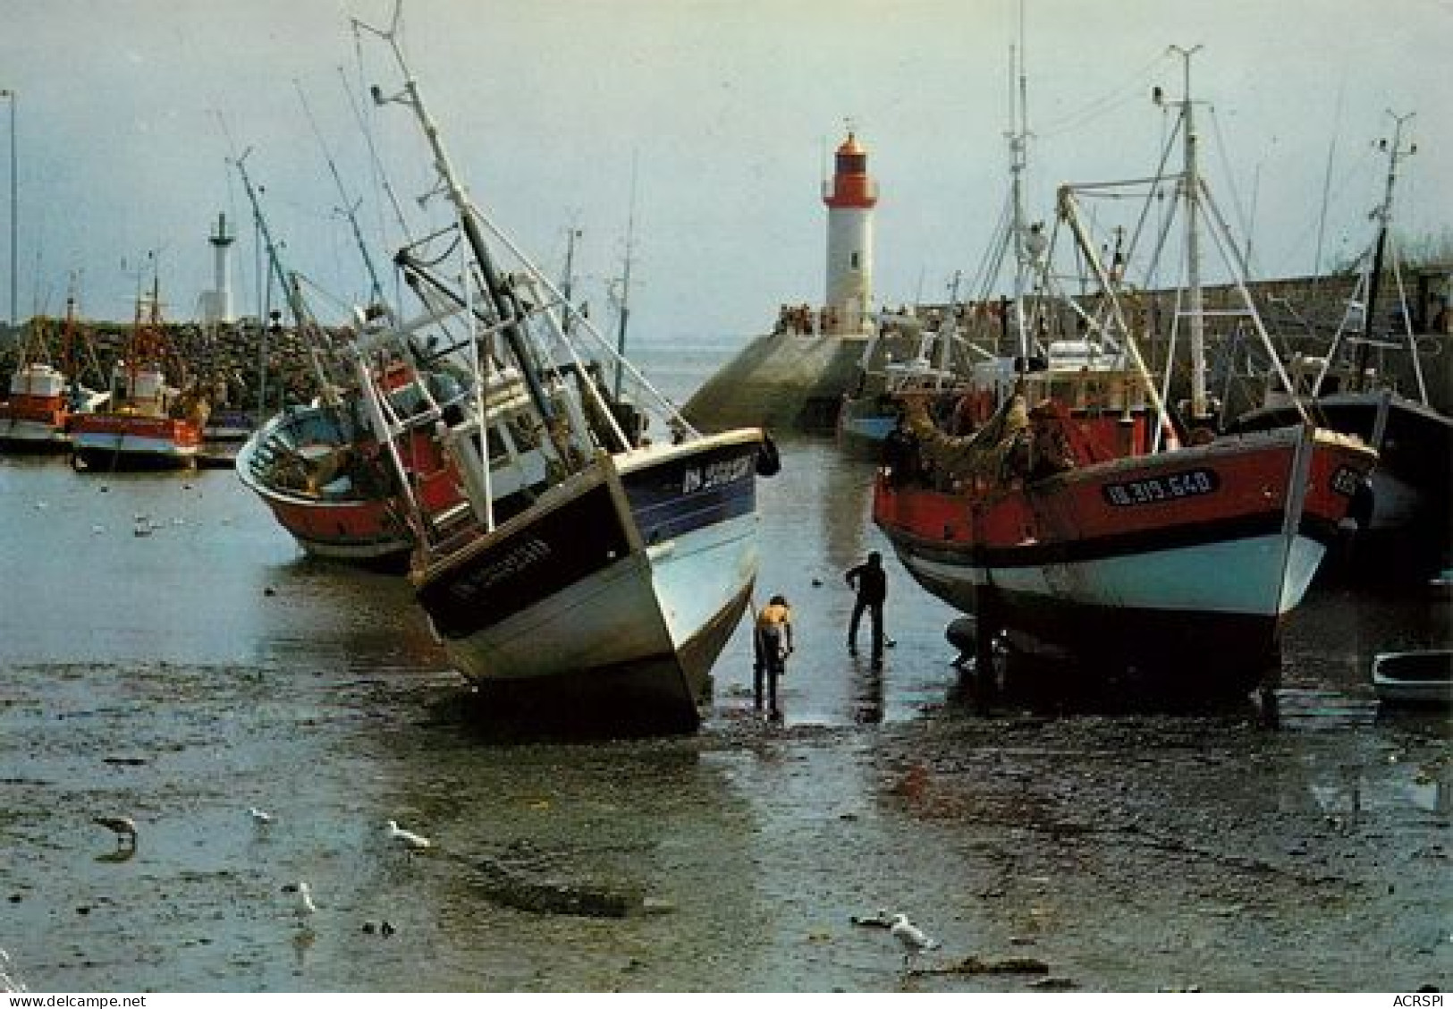
<path fill-rule="evenodd" d="M 1446 715 L 940 696 L 773 725 L 728 683 L 695 736 L 503 743 L 413 663 L 4 676 L 0 948 L 32 990 L 1453 983 Z M 134 853 L 97 814 L 135 819 Z M 853 922 L 879 909 L 942 946 L 905 970 Z"/>

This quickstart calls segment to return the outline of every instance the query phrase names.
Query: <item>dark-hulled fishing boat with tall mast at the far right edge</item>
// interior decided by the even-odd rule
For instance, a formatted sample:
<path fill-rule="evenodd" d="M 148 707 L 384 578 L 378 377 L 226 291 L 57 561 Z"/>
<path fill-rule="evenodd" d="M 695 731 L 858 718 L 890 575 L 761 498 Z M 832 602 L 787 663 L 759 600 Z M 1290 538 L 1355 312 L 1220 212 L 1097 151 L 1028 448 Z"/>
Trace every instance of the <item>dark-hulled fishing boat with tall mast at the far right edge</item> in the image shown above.
<path fill-rule="evenodd" d="M 1369 500 L 1359 518 L 1359 536 L 1343 560 L 1354 576 L 1421 580 L 1453 564 L 1453 417 L 1433 407 L 1424 379 L 1412 315 L 1407 311 L 1402 275 L 1392 243 L 1393 188 L 1402 145 L 1396 119 L 1377 222 L 1370 254 L 1347 302 L 1343 320 L 1325 355 L 1289 362 L 1290 385 L 1271 372 L 1261 403 L 1228 425 L 1228 430 L 1267 430 L 1299 423 L 1311 413 L 1332 430 L 1356 435 L 1377 449 Z M 1398 307 L 1388 318 L 1379 313 L 1385 268 L 1398 286 Z M 1389 331 L 1391 330 L 1391 331 Z M 1407 355 L 1415 388 L 1411 395 L 1373 366 L 1373 353 Z"/>

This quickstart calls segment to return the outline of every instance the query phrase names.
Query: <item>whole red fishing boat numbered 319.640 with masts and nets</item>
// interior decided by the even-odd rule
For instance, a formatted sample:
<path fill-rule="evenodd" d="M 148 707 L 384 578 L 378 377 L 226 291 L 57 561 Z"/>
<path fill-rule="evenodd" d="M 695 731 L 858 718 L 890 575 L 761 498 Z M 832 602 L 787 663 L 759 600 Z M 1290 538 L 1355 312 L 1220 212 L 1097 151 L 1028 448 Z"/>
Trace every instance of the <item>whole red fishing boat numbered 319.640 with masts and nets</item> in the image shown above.
<path fill-rule="evenodd" d="M 1194 236 L 1202 211 L 1221 218 L 1196 169 L 1189 90 L 1187 70 L 1184 170 L 1130 185 L 1149 199 L 1162 185 L 1183 198 L 1189 281 L 1177 323 L 1190 330 L 1189 417 L 1173 414 L 1145 365 L 1151 313 L 1126 263 L 1104 262 L 1080 209 L 1109 183 L 1062 186 L 1059 222 L 1097 288 L 1094 298 L 1064 298 L 1081 336 L 1043 353 L 1029 340 L 1039 327 L 1021 329 L 1021 352 L 997 377 L 981 366 L 997 409 L 969 435 L 943 433 L 908 400 L 918 459 L 910 473 L 881 471 L 873 519 L 920 584 L 976 618 L 981 648 L 1003 632 L 1088 669 L 1235 695 L 1274 673 L 1283 622 L 1338 541 L 1376 454 L 1306 420 L 1212 435 Z M 1164 237 L 1149 244 L 1165 247 Z M 1244 302 L 1238 321 L 1270 346 Z M 981 659 L 987 669 L 989 656 Z"/>

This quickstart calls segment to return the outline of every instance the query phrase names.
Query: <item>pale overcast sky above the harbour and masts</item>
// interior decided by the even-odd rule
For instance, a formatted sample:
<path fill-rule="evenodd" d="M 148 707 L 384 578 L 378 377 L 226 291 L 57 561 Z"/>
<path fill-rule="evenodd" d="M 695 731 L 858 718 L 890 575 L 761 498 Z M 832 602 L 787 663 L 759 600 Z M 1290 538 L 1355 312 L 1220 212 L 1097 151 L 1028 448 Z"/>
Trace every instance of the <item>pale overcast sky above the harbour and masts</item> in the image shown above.
<path fill-rule="evenodd" d="M 0 89 L 17 95 L 19 314 L 58 314 L 78 276 L 84 314 L 129 318 L 138 268 L 160 250 L 167 315 L 195 317 L 222 211 L 238 222 L 238 310 L 256 311 L 251 214 L 230 166 L 247 148 L 286 266 L 325 292 L 320 314 L 362 300 L 328 157 L 381 265 L 398 238 L 381 177 L 411 227 L 429 220 L 413 199 L 429 182 L 411 119 L 363 90 L 400 79 L 350 29 L 391 10 L 0 0 Z M 1035 217 L 1061 182 L 1151 172 L 1165 129 L 1151 87 L 1178 96 L 1167 48 L 1200 45 L 1205 164 L 1261 276 L 1314 272 L 1324 192 L 1324 262 L 1369 240 L 1389 109 L 1417 113 L 1402 230 L 1417 240 L 1453 224 L 1453 0 L 1024 0 L 1023 23 Z M 597 305 L 622 269 L 636 164 L 639 340 L 719 346 L 764 331 L 780 302 L 821 301 L 819 185 L 846 121 L 881 188 L 883 302 L 943 300 L 1004 204 L 1020 0 L 405 0 L 404 25 L 475 199 L 551 270 L 567 228 L 581 230 L 580 284 Z M 9 311 L 7 241 L 0 263 Z"/>

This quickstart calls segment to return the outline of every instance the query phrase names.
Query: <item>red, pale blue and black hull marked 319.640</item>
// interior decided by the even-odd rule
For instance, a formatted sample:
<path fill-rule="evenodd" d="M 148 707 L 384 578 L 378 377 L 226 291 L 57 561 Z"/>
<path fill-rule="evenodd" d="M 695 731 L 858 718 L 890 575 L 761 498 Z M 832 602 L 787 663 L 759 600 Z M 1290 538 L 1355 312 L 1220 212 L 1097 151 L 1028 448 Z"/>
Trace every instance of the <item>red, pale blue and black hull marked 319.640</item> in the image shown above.
<path fill-rule="evenodd" d="M 1274 664 L 1372 461 L 1296 429 L 979 497 L 881 481 L 875 520 L 928 592 L 994 630 L 1242 691 Z"/>

